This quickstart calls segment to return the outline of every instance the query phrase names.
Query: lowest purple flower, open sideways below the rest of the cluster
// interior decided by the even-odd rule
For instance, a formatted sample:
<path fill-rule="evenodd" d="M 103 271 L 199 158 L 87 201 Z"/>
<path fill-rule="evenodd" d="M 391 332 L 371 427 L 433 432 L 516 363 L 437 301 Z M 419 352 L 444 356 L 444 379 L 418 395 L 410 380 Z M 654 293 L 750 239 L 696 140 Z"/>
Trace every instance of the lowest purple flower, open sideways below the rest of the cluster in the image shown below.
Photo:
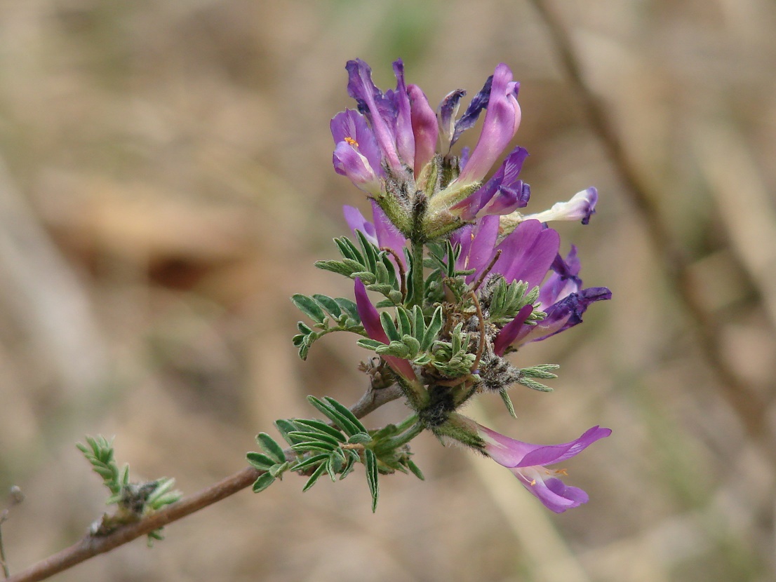
<path fill-rule="evenodd" d="M 556 513 L 587 503 L 588 497 L 579 487 L 563 483 L 560 476 L 566 476 L 566 469 L 547 469 L 546 466 L 571 459 L 594 442 L 611 435 L 611 429 L 594 426 L 580 438 L 563 445 L 532 445 L 480 424 L 477 424 L 477 431 L 485 442 L 483 452 L 510 469 L 528 491 Z"/>

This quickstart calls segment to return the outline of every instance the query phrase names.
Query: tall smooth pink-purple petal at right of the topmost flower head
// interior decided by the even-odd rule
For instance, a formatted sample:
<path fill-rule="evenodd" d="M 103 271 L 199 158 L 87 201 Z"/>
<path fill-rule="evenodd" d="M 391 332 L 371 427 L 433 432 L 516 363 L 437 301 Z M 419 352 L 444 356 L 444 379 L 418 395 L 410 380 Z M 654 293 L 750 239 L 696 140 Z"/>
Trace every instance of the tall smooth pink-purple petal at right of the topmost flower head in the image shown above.
<path fill-rule="evenodd" d="M 517 94 L 518 84 L 512 81 L 512 71 L 506 64 L 498 64 L 480 139 L 458 176 L 458 182 L 467 184 L 483 179 L 517 133 L 521 116 Z"/>

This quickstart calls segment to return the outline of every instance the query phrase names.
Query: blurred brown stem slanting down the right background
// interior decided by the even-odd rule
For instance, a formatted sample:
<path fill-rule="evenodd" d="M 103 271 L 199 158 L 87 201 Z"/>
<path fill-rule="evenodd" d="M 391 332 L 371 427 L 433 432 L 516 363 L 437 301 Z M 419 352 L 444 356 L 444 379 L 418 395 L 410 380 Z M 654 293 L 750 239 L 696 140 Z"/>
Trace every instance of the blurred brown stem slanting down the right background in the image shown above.
<path fill-rule="evenodd" d="M 588 123 L 601 140 L 618 178 L 625 185 L 625 193 L 646 223 L 647 232 L 660 256 L 660 264 L 663 265 L 667 279 L 674 287 L 677 297 L 684 304 L 691 327 L 695 331 L 696 341 L 708 367 L 719 378 L 722 393 L 739 415 L 743 426 L 755 440 L 768 441 L 762 443 L 764 450 L 770 455 L 771 461 L 776 462 L 776 449 L 771 446 L 773 435 L 767 425 L 768 408 L 760 393 L 753 390 L 729 364 L 727 355 L 719 342 L 719 322 L 703 307 L 702 300 L 691 281 L 688 257 L 660 216 L 660 209 L 656 204 L 658 196 L 632 164 L 605 106 L 595 97 L 584 80 L 569 35 L 556 12 L 550 9 L 544 0 L 532 0 L 532 4 L 549 29 L 563 69 L 568 75 L 574 94 L 580 99 Z"/>

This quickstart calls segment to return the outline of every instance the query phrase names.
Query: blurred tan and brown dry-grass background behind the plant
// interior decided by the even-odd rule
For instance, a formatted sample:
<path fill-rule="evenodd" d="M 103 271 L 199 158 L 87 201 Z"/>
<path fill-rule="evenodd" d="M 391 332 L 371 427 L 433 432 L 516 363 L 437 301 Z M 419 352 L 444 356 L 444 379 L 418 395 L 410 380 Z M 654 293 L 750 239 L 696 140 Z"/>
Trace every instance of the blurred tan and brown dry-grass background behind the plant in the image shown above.
<path fill-rule="evenodd" d="M 529 442 L 612 428 L 567 466 L 590 503 L 551 514 L 421 435 L 426 482 L 384 478 L 376 514 L 360 471 L 305 494 L 288 476 L 56 580 L 774 580 L 776 5 L 549 5 L 622 159 L 532 2 L 0 2 L 0 489 L 26 494 L 2 526 L 12 572 L 104 511 L 85 434 L 192 493 L 275 418 L 312 416 L 307 394 L 363 393 L 351 338 L 298 359 L 288 298 L 352 293 L 313 267 L 347 232 L 341 205 L 367 208 L 331 168 L 328 120 L 353 106 L 345 61 L 390 88 L 403 57 L 433 105 L 510 65 L 528 211 L 598 187 L 591 224 L 557 229 L 613 300 L 521 350 L 562 367 L 553 393 L 514 388 L 517 421 L 498 397 L 469 409 Z"/>

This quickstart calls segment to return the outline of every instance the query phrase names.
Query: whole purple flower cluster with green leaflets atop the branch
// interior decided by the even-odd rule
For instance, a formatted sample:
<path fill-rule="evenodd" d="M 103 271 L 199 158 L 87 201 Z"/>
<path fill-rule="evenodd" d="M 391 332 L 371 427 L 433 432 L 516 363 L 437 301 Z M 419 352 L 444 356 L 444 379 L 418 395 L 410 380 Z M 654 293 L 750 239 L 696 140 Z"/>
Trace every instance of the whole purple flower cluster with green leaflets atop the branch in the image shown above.
<path fill-rule="evenodd" d="M 461 116 L 465 91 L 450 92 L 434 110 L 417 85 L 407 85 L 402 61 L 393 63 L 397 84 L 386 92 L 364 61 L 346 68 L 356 109 L 331 120 L 334 169 L 369 196 L 372 220 L 345 206 L 360 246 L 337 239 L 342 260 L 317 266 L 353 279 L 355 304 L 347 316 L 348 300 L 297 296 L 321 330 L 300 323 L 300 355 L 329 331 L 361 334 L 359 345 L 379 356 L 364 369 L 374 375 L 376 365 L 380 378 L 400 386 L 418 430 L 490 456 L 552 511 L 577 507 L 587 494 L 567 487 L 563 470 L 545 466 L 576 456 L 608 428 L 563 445 L 531 445 L 458 411 L 476 394 L 497 392 L 514 414 L 508 388 L 549 390 L 539 380 L 554 378 L 556 365 L 518 368 L 505 356 L 581 323 L 591 303 L 611 297 L 605 287 L 583 287 L 577 249 L 560 255 L 559 233 L 547 226 L 587 224 L 598 192 L 588 188 L 550 210 L 518 212 L 531 189 L 519 178 L 528 152 L 514 147 L 504 155 L 521 120 L 519 84 L 506 64 L 497 65 Z M 483 111 L 476 146 L 453 153 Z M 372 303 L 369 291 L 383 300 Z"/>

